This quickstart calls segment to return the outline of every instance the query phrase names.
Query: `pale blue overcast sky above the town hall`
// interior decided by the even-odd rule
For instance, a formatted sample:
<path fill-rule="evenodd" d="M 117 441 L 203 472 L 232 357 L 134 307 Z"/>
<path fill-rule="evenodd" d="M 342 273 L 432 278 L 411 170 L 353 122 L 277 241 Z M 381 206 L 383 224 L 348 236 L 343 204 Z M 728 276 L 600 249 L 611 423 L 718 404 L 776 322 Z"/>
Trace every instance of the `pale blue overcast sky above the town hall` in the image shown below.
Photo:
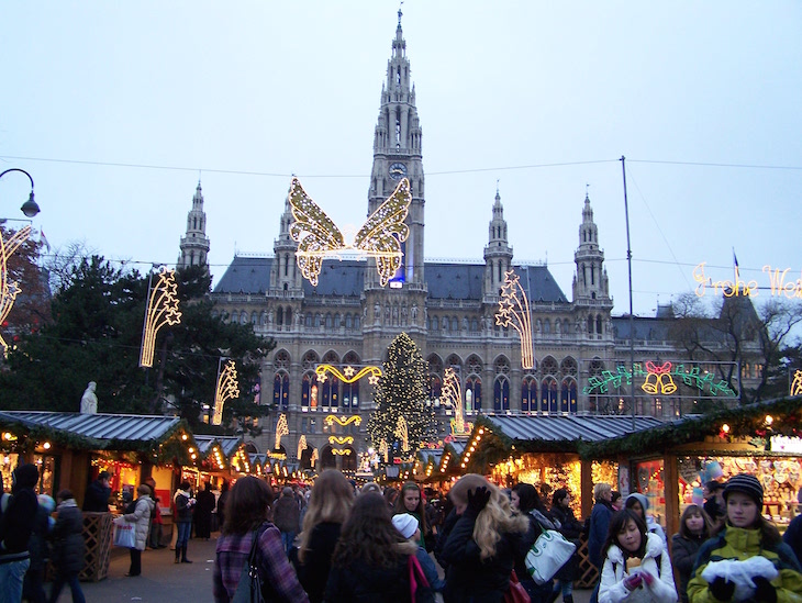
<path fill-rule="evenodd" d="M 291 175 L 341 227 L 367 213 L 398 1 L 0 4 L 0 170 L 33 225 L 174 265 L 200 179 L 214 282 L 268 255 Z M 571 298 L 586 193 L 615 315 L 769 265 L 802 277 L 802 3 L 405 0 L 425 256 L 481 260 L 497 187 L 514 263 Z M 24 175 L 0 179 L 19 219 Z M 12 226 L 14 223 L 10 223 Z M 712 292 L 708 290 L 708 299 Z M 802 303 L 797 299 L 797 303 Z"/>

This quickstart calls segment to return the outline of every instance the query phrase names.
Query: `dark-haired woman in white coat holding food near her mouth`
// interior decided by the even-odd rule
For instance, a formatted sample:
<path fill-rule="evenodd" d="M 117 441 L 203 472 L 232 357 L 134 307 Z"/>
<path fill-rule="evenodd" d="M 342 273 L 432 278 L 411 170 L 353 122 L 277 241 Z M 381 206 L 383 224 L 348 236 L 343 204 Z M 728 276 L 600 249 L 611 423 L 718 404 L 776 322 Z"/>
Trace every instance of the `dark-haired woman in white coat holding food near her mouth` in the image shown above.
<path fill-rule="evenodd" d="M 639 513 L 624 509 L 610 521 L 599 603 L 676 603 L 671 560 Z"/>

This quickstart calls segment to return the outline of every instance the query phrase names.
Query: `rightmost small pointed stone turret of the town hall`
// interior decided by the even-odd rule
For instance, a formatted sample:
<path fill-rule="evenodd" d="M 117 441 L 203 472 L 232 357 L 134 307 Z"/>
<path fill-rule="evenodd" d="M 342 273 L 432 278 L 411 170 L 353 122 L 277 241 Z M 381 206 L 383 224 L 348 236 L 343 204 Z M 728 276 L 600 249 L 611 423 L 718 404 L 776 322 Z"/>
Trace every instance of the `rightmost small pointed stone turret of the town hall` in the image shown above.
<path fill-rule="evenodd" d="M 573 275 L 573 305 L 580 333 L 601 340 L 611 336 L 610 298 L 608 271 L 604 268 L 604 252 L 599 248 L 599 230 L 593 222 L 593 208 L 584 193 L 582 223 L 579 226 L 579 248 L 573 254 L 577 271 Z"/>

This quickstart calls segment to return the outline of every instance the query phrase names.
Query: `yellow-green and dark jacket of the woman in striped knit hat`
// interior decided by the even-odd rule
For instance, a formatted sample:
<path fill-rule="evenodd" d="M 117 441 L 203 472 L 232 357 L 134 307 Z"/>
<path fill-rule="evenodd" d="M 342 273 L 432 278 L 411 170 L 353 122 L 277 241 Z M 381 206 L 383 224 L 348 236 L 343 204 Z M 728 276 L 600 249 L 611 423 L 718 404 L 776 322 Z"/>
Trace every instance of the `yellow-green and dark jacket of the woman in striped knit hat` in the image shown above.
<path fill-rule="evenodd" d="M 699 549 L 693 576 L 688 582 L 688 599 L 691 603 L 719 603 L 708 589 L 702 571 L 710 561 L 735 559 L 743 561 L 760 555 L 771 561 L 779 576 L 771 580 L 777 589 L 777 603 L 799 602 L 802 596 L 802 570 L 793 550 L 784 544 L 764 545 L 759 529 L 745 529 L 727 525 Z"/>

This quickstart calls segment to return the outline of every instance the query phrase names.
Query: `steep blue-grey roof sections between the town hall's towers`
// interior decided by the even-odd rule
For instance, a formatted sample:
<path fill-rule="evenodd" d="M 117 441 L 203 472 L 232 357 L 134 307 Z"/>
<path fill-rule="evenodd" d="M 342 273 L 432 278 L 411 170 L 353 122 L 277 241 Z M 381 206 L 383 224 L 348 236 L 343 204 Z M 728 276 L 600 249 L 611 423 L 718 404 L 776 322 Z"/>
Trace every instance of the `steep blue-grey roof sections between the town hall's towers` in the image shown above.
<path fill-rule="evenodd" d="M 235 256 L 214 288 L 215 293 L 265 293 L 270 283 L 274 258 Z M 568 300 L 547 266 L 515 266 L 530 301 L 566 303 Z M 364 260 L 323 261 L 318 287 L 303 281 L 307 297 L 360 297 L 365 287 Z M 425 278 L 432 299 L 481 300 L 484 264 L 427 261 Z"/>

